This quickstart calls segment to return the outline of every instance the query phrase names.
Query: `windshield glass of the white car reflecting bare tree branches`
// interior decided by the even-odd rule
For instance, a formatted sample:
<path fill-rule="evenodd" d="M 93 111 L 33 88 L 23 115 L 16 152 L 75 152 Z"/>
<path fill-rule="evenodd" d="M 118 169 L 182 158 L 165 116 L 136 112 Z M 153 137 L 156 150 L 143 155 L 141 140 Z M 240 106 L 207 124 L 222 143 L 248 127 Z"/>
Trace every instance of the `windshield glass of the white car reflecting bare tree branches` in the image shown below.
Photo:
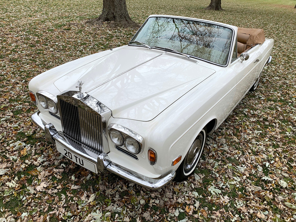
<path fill-rule="evenodd" d="M 167 17 L 149 18 L 132 41 L 174 49 L 226 65 L 232 30 L 220 25 Z"/>

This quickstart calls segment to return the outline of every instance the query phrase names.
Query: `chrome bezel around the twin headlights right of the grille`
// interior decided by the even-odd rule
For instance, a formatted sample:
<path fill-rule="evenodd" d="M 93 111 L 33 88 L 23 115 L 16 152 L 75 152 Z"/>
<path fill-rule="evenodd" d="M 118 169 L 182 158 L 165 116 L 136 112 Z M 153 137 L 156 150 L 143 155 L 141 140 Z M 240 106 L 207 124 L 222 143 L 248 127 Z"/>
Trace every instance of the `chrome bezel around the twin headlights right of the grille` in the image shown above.
<path fill-rule="evenodd" d="M 108 126 L 108 134 L 109 134 L 109 138 L 110 140 L 112 141 L 111 139 L 111 136 L 110 136 L 110 131 L 111 130 L 116 130 L 118 131 L 122 136 L 123 136 L 123 144 L 119 147 L 121 148 L 124 148 L 126 149 L 129 153 L 133 154 L 133 155 L 138 155 L 138 154 L 141 154 L 143 152 L 143 148 L 144 148 L 144 139 L 143 137 L 141 137 L 138 133 L 135 133 L 134 131 L 131 131 L 130 129 L 124 127 L 124 126 L 120 126 L 116 123 L 111 123 L 109 126 Z M 132 139 L 134 139 L 138 145 L 139 145 L 139 152 L 137 153 L 134 153 L 134 152 L 131 152 L 127 147 L 126 147 L 126 138 L 128 137 L 131 137 Z M 113 144 L 115 144 L 113 141 L 112 141 Z M 118 144 L 115 144 L 116 146 L 118 146 Z"/>

